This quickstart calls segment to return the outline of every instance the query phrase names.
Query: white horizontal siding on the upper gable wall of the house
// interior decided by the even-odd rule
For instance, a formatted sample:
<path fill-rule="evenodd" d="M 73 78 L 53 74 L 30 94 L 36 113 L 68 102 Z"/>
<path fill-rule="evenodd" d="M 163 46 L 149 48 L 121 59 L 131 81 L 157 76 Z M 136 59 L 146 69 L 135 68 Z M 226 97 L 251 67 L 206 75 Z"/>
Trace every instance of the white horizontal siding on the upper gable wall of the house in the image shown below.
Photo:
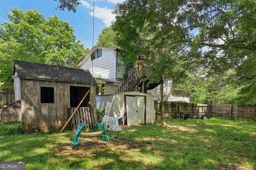
<path fill-rule="evenodd" d="M 93 60 L 93 74 L 98 74 L 109 80 L 116 80 L 116 51 L 102 49 L 102 57 Z M 82 69 L 92 72 L 92 61 L 89 58 L 81 65 Z"/>

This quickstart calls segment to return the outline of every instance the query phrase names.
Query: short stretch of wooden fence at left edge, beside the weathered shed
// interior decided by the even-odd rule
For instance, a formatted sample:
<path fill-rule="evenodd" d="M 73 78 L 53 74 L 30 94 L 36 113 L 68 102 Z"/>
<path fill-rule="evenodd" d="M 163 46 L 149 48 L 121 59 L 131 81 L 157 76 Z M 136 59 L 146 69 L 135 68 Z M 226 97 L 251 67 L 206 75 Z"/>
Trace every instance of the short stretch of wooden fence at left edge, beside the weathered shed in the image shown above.
<path fill-rule="evenodd" d="M 0 111 L 14 100 L 14 89 L 0 87 Z"/>

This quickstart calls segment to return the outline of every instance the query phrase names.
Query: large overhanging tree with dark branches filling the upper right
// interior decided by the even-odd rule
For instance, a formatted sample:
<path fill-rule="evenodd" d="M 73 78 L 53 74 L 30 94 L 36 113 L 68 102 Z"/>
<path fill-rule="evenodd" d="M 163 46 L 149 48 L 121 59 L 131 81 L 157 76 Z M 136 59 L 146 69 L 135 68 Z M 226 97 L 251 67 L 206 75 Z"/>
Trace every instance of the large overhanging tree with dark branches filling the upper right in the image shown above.
<path fill-rule="evenodd" d="M 127 0 L 114 8 L 112 27 L 128 61 L 142 54 L 151 63 L 184 61 L 186 70 L 209 76 L 234 69 L 230 77 L 255 87 L 255 6 L 251 0 Z"/>

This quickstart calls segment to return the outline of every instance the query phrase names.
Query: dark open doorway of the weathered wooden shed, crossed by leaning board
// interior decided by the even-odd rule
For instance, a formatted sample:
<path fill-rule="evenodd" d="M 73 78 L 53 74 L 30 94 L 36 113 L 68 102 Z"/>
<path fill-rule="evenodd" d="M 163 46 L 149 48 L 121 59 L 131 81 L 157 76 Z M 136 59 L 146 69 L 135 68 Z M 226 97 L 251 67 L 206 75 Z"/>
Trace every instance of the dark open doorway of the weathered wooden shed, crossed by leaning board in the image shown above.
<path fill-rule="evenodd" d="M 70 107 L 77 107 L 84 95 L 90 90 L 89 87 L 70 86 Z M 86 96 L 79 107 L 88 107 L 90 101 L 90 93 Z"/>

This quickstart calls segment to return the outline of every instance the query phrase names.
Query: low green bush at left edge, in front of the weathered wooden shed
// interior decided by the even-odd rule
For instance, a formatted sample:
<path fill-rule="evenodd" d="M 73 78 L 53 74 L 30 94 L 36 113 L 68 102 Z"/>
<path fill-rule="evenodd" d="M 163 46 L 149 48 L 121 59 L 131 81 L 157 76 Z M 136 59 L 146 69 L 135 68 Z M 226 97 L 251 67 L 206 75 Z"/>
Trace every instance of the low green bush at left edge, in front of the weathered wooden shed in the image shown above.
<path fill-rule="evenodd" d="M 21 134 L 22 130 L 20 127 L 20 123 L 2 123 L 2 127 L 0 127 L 0 136 L 4 135 L 16 135 Z"/>

